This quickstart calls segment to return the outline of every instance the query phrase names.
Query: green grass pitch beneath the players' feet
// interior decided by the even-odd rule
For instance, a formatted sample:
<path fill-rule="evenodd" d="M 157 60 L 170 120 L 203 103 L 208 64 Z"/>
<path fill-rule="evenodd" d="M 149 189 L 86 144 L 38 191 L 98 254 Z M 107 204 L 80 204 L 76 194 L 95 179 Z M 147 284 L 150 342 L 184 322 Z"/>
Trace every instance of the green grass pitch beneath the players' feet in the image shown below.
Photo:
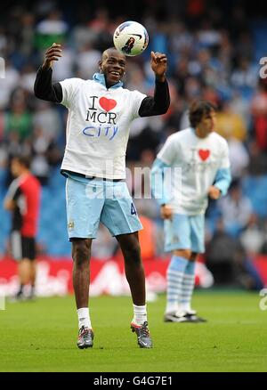
<path fill-rule="evenodd" d="M 165 296 L 148 306 L 154 348 L 130 331 L 130 297 L 93 297 L 93 349 L 78 350 L 74 297 L 7 304 L 0 312 L 0 371 L 267 371 L 267 311 L 258 294 L 197 291 L 206 323 L 164 323 Z"/>

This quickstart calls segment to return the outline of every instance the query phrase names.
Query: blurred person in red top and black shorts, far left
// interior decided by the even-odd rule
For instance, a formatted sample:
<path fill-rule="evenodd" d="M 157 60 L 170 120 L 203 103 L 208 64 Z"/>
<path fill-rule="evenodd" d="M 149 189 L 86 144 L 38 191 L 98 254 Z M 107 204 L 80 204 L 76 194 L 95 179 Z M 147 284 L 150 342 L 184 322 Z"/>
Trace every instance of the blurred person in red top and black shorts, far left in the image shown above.
<path fill-rule="evenodd" d="M 12 181 L 4 199 L 4 208 L 12 212 L 12 257 L 19 262 L 20 289 L 17 299 L 24 299 L 24 287 L 30 283 L 29 298 L 35 295 L 36 284 L 36 230 L 39 215 L 41 186 L 29 171 L 29 159 L 14 157 Z"/>

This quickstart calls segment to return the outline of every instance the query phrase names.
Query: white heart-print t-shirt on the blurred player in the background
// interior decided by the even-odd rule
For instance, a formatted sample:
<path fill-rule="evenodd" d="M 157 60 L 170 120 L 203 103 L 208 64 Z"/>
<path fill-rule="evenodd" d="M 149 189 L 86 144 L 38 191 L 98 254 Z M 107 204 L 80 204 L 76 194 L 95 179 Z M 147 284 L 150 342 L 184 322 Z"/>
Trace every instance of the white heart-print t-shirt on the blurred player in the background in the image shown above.
<path fill-rule="evenodd" d="M 186 215 L 204 214 L 208 188 L 219 169 L 229 168 L 229 149 L 225 139 L 216 133 L 198 138 L 192 128 L 170 135 L 158 158 L 174 169 L 170 175 L 170 204 L 174 212 Z M 166 192 L 167 193 L 167 192 Z"/>

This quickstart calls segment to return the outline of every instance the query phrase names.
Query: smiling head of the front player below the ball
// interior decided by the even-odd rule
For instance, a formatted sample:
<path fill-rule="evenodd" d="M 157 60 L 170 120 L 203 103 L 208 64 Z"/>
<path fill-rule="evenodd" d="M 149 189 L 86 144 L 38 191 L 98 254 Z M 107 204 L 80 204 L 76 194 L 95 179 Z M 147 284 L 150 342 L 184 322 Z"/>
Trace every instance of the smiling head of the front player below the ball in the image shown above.
<path fill-rule="evenodd" d="M 100 72 L 106 77 L 107 85 L 115 85 L 125 74 L 126 57 L 115 47 L 110 47 L 102 53 L 99 62 Z"/>

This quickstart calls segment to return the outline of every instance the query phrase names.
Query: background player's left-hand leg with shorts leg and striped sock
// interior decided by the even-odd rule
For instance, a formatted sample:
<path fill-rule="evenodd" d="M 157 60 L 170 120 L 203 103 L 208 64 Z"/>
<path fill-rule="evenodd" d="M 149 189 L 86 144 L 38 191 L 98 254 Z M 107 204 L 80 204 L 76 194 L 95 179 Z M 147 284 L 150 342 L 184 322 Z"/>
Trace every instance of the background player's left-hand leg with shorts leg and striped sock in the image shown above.
<path fill-rule="evenodd" d="M 164 320 L 186 321 L 179 302 L 182 297 L 182 280 L 191 256 L 190 223 L 188 215 L 174 214 L 165 221 L 165 249 L 173 256 L 166 272 L 166 312 Z"/>

